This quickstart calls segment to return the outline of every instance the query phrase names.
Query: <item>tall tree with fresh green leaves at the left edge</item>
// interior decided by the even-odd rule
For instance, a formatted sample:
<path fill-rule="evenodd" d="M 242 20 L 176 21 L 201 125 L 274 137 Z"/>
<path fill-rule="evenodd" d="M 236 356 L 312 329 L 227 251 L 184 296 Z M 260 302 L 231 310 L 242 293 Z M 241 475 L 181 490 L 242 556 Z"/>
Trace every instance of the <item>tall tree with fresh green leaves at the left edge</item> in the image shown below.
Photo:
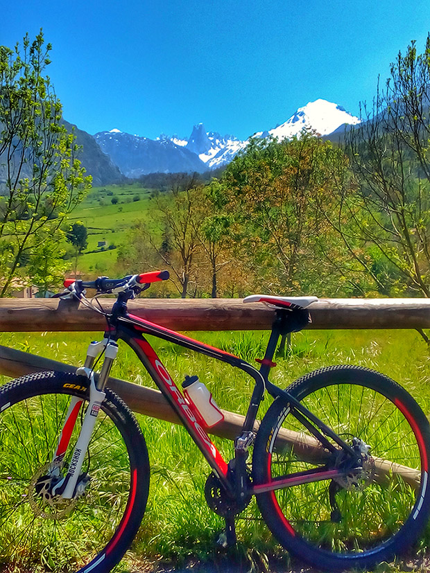
<path fill-rule="evenodd" d="M 76 159 L 74 134 L 44 76 L 51 45 L 42 31 L 22 51 L 0 46 L 0 297 L 42 245 L 56 245 L 91 178 Z M 47 249 L 49 251 L 49 249 Z"/>

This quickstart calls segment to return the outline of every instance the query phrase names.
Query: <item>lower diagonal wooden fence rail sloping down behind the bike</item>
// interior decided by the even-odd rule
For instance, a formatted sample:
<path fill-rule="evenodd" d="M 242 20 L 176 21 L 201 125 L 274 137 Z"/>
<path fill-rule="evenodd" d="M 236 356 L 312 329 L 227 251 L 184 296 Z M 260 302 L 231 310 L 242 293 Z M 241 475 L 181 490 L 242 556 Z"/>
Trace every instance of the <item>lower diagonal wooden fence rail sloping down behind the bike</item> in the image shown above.
<path fill-rule="evenodd" d="M 10 349 L 8 346 L 0 346 L 0 373 L 15 378 L 28 373 L 46 370 L 74 372 L 76 367 L 64 362 L 57 362 L 42 356 Z M 109 378 L 108 385 L 135 412 L 175 424 L 181 423 L 160 391 L 112 377 Z M 234 414 L 226 410 L 223 410 L 223 414 L 224 421 L 210 428 L 209 432 L 221 438 L 234 439 L 241 431 L 245 418 L 240 414 Z M 257 421 L 254 429 L 257 431 L 258 427 L 259 422 Z M 322 463 L 326 455 L 325 450 L 320 448 L 318 441 L 310 434 L 306 435 L 303 432 L 281 430 L 275 448 L 284 448 L 284 446 L 294 446 L 296 455 L 304 461 L 318 461 L 318 463 Z M 379 483 L 384 483 L 391 476 L 398 475 L 413 488 L 417 488 L 420 484 L 420 473 L 407 466 L 376 458 L 375 470 L 375 479 Z"/>

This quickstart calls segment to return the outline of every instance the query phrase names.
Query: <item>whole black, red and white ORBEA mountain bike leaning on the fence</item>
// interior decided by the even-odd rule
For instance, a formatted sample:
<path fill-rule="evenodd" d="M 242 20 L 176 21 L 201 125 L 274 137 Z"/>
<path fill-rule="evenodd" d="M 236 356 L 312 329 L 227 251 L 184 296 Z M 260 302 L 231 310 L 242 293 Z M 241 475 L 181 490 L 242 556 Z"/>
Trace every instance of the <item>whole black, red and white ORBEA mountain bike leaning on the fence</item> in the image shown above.
<path fill-rule="evenodd" d="M 150 468 L 135 416 L 106 385 L 119 340 L 135 351 L 207 460 L 205 498 L 225 520 L 224 544 L 236 542 L 234 520 L 253 495 L 279 544 L 324 570 L 369 568 L 415 543 L 430 511 L 430 428 L 415 400 L 390 378 L 360 367 L 323 368 L 286 390 L 270 382 L 279 337 L 309 324 L 307 307 L 316 297 L 245 299 L 275 312 L 258 369 L 128 312 L 128 300 L 168 277 L 157 271 L 65 281 L 58 296 L 105 315 L 103 340 L 89 344 L 76 373 L 36 373 L 1 387 L 0 558 L 6 570 L 108 572 L 137 534 Z M 85 297 L 87 288 L 96 290 L 94 301 Z M 105 312 L 97 297 L 112 293 L 117 299 Z M 178 388 L 146 335 L 252 378 L 230 461 L 209 439 L 214 422 L 191 398 L 196 377 L 187 376 L 184 392 Z M 265 393 L 274 400 L 257 427 Z M 206 406 L 219 414 L 210 395 Z"/>

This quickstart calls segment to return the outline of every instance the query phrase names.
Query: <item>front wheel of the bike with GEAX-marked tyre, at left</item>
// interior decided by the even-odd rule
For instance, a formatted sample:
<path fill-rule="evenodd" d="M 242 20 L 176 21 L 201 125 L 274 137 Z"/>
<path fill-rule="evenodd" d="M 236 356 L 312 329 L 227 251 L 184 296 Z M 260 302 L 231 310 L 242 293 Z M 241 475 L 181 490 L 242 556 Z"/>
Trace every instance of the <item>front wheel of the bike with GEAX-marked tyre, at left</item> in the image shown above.
<path fill-rule="evenodd" d="M 84 402 L 62 475 L 69 466 L 88 385 L 83 376 L 42 372 L 0 389 L 0 562 L 13 570 L 106 573 L 137 534 L 148 499 L 148 450 L 135 416 L 108 388 L 83 463 L 83 495 L 50 503 L 40 494 L 69 401 L 78 396 Z"/>

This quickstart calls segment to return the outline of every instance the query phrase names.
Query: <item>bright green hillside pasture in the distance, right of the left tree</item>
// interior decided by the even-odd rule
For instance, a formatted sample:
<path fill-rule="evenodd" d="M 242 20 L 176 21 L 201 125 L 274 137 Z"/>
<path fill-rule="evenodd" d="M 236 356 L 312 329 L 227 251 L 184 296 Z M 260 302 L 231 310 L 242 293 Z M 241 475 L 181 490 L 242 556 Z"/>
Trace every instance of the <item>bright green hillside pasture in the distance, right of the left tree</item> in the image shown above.
<path fill-rule="evenodd" d="M 117 249 L 112 247 L 126 242 L 135 222 L 148 220 L 151 193 L 138 184 L 92 188 L 70 219 L 71 223 L 82 222 L 88 231 L 87 249 L 78 258 L 80 272 L 90 276 L 111 272 L 117 261 Z M 113 197 L 117 204 L 112 204 Z M 98 247 L 101 241 L 105 245 Z"/>

